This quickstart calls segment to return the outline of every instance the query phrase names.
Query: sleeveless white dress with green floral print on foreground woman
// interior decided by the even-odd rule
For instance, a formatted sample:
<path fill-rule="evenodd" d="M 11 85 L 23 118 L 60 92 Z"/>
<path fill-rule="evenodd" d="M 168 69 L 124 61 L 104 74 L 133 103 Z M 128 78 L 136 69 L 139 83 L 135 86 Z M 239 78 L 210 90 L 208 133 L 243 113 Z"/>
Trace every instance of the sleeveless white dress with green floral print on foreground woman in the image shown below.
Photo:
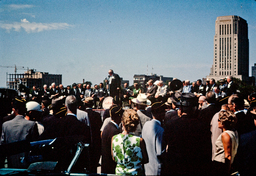
<path fill-rule="evenodd" d="M 112 141 L 117 175 L 144 175 L 140 137 L 133 134 L 117 134 Z"/>

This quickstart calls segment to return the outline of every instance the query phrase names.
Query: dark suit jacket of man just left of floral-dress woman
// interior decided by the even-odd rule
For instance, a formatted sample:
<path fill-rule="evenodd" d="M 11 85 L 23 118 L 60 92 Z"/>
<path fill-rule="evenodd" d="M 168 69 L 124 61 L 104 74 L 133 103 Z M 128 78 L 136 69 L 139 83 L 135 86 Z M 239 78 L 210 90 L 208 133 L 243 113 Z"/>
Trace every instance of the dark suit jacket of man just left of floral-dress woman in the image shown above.
<path fill-rule="evenodd" d="M 111 140 L 112 137 L 121 132 L 120 129 L 109 122 L 102 132 L 102 163 L 101 173 L 115 174 L 116 163 L 111 156 Z"/>

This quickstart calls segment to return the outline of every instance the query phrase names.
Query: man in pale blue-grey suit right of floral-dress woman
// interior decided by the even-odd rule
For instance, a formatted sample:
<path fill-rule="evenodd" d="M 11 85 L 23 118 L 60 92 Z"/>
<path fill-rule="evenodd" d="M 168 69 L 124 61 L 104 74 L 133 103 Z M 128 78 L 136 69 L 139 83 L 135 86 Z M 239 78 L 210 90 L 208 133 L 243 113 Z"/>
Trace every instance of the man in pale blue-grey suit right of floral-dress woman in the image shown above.
<path fill-rule="evenodd" d="M 160 175 L 161 162 L 158 157 L 161 156 L 163 145 L 164 129 L 161 126 L 165 117 L 165 106 L 161 102 L 155 102 L 151 106 L 153 119 L 147 121 L 142 129 L 142 138 L 146 143 L 149 162 L 144 165 L 146 175 Z"/>

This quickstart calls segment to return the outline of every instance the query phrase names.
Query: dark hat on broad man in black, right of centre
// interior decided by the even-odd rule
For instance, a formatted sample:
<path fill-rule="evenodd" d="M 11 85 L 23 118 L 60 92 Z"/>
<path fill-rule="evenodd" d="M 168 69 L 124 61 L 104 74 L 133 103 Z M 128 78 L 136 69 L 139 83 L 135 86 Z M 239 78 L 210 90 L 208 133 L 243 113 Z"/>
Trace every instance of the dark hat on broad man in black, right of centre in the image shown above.
<path fill-rule="evenodd" d="M 176 94 L 175 94 L 176 95 Z M 177 97 L 177 106 L 193 107 L 197 106 L 197 97 L 193 93 L 182 93 Z"/>

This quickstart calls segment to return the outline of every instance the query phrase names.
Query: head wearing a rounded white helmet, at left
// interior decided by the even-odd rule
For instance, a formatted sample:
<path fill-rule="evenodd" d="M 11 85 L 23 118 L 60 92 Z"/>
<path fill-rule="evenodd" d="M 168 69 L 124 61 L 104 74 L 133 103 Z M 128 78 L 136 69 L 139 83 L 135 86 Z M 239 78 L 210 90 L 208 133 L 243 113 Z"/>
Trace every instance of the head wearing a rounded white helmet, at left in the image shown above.
<path fill-rule="evenodd" d="M 29 101 L 26 103 L 27 113 L 26 115 L 29 116 L 29 120 L 33 121 L 40 121 L 42 110 L 39 103 L 36 101 Z"/>

